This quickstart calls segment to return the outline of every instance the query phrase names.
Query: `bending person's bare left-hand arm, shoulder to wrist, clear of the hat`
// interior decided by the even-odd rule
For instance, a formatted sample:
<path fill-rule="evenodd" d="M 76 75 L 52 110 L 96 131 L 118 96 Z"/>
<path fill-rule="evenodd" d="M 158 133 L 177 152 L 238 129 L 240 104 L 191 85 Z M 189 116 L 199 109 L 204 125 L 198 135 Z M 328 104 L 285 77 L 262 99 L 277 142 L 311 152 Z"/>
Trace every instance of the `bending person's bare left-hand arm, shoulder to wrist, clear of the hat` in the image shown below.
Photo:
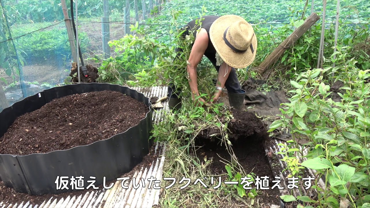
<path fill-rule="evenodd" d="M 192 98 L 195 99 L 195 95 L 199 96 L 196 67 L 198 63 L 202 60 L 205 50 L 208 46 L 208 34 L 205 29 L 201 29 L 195 38 L 194 45 L 190 52 L 187 70 L 189 73 L 189 86 L 192 92 Z"/>

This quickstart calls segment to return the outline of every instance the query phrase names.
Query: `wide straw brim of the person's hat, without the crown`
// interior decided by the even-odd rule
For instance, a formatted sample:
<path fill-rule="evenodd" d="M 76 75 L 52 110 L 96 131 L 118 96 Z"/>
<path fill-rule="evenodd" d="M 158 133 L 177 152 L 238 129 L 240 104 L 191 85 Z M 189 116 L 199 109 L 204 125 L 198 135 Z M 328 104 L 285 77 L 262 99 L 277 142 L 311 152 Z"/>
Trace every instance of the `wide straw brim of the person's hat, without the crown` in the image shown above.
<path fill-rule="evenodd" d="M 228 28 L 232 23 L 240 20 L 244 19 L 233 14 L 221 16 L 213 22 L 211 28 L 209 29 L 209 37 L 217 53 L 220 55 L 223 61 L 234 68 L 245 68 L 249 66 L 254 61 L 257 52 L 256 35 L 253 36 L 251 41 L 254 53 L 252 53 L 250 48 L 243 53 L 236 53 L 229 48 L 229 46 L 227 46 L 223 40 L 223 33 L 225 32 L 226 28 Z"/>

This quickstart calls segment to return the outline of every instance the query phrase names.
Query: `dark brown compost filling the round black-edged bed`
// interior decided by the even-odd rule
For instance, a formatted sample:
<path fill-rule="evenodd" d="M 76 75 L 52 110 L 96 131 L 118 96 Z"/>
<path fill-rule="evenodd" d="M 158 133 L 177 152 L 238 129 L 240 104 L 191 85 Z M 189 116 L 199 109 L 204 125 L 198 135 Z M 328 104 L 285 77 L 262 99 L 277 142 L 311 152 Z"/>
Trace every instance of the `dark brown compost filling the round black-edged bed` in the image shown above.
<path fill-rule="evenodd" d="M 149 108 L 116 91 L 75 94 L 18 117 L 0 138 L 0 154 L 67 150 L 137 125 Z"/>

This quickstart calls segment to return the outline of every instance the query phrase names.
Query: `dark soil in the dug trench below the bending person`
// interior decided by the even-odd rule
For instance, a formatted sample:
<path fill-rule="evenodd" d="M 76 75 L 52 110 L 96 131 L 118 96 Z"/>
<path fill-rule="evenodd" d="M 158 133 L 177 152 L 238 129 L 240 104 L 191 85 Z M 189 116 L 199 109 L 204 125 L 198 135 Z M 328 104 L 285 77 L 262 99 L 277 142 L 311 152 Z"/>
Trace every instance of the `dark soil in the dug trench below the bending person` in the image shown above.
<path fill-rule="evenodd" d="M 273 174 L 263 147 L 265 141 L 269 140 L 266 127 L 253 111 L 233 111 L 233 117 L 231 127 L 229 127 L 231 132 L 229 138 L 239 164 L 243 167 L 246 174 L 252 172 L 255 174 L 255 177 L 269 177 L 269 189 L 259 189 L 256 201 L 258 200 L 258 204 L 261 207 L 270 207 L 271 204 L 279 205 L 279 189 L 271 189 L 275 184 L 272 181 L 275 180 L 274 177 L 276 175 Z M 212 158 L 212 163 L 209 165 L 210 171 L 214 175 L 222 175 L 221 181 L 229 181 L 224 162 L 226 162 L 225 160 L 230 162 L 232 160 L 231 155 L 226 150 L 225 144 L 220 145 L 219 140 L 210 139 L 210 133 L 214 132 L 208 130 L 206 134 L 203 134 L 196 140 L 195 145 L 200 146 L 200 148 L 196 150 L 195 154 L 201 161 L 204 161 L 203 158 L 205 156 L 207 160 Z M 245 177 L 245 175 L 242 175 L 242 177 Z M 256 188 L 255 184 L 250 186 Z M 248 193 L 248 190 L 246 190 L 246 193 Z"/>

